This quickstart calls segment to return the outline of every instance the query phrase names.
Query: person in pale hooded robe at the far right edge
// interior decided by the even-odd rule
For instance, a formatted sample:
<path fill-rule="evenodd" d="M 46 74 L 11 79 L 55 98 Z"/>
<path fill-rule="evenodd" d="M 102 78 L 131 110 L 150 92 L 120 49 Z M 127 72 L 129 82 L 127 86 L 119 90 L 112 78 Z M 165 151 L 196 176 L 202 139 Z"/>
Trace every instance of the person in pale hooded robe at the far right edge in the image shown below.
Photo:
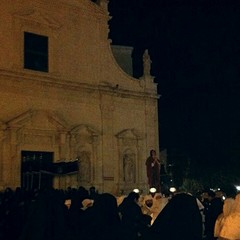
<path fill-rule="evenodd" d="M 225 217 L 222 228 L 219 232 L 219 239 L 240 239 L 240 193 L 235 197 L 231 212 Z"/>

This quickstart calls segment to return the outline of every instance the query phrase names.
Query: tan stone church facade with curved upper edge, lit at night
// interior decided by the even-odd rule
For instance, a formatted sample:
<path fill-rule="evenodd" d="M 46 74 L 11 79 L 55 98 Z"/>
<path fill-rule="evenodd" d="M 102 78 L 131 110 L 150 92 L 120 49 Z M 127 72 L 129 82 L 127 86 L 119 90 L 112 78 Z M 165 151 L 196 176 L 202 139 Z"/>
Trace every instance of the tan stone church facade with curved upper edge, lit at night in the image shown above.
<path fill-rule="evenodd" d="M 147 190 L 145 160 L 159 149 L 157 85 L 147 54 L 141 79 L 117 64 L 107 5 L 1 1 L 1 188 L 45 180 L 61 189 Z M 77 169 L 48 168 L 57 163 Z"/>

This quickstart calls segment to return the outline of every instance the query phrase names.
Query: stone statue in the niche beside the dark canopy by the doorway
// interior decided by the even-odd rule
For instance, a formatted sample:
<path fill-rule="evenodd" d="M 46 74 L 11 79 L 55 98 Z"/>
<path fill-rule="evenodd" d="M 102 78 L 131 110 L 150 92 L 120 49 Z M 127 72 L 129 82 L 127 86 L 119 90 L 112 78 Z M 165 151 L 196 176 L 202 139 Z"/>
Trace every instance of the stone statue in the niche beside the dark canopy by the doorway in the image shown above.
<path fill-rule="evenodd" d="M 91 180 L 91 163 L 90 152 L 80 152 L 78 155 L 79 179 L 82 182 L 90 182 Z"/>

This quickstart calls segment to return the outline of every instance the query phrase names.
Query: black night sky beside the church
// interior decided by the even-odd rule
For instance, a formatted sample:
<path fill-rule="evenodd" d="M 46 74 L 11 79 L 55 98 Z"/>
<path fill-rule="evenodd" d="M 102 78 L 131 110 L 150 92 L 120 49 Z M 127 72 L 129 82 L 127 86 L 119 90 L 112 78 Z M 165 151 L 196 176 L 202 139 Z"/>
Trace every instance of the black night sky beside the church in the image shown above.
<path fill-rule="evenodd" d="M 110 0 L 109 11 L 109 38 L 134 47 L 136 77 L 149 49 L 160 148 L 240 167 L 240 1 Z"/>

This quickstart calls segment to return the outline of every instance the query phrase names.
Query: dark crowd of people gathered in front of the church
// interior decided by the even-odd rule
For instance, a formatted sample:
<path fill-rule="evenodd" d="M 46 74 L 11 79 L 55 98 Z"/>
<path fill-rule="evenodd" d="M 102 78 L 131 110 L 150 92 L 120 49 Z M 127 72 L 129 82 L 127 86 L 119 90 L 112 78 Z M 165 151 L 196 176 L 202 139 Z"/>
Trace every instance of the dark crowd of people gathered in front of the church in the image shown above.
<path fill-rule="evenodd" d="M 126 196 L 94 187 L 0 192 L 3 240 L 237 240 L 240 194 L 225 201 L 208 191 Z"/>

